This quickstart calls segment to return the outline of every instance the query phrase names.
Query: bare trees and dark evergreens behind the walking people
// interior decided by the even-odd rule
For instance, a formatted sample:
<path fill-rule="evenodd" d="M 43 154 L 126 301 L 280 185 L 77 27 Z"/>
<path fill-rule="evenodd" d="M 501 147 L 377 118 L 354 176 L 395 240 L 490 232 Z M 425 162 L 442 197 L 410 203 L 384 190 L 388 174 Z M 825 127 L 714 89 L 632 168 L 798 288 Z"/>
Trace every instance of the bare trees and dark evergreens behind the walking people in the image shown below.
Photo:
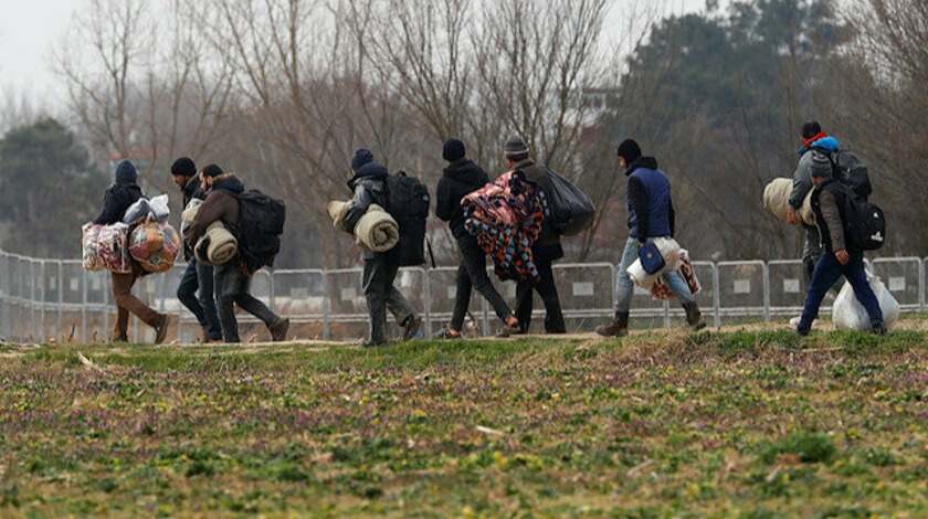
<path fill-rule="evenodd" d="M 14 124 L 24 110 L 0 106 L 0 199 L 17 202 L 2 204 L 0 225 L 13 252 L 73 256 L 66 225 L 98 205 L 108 161 L 130 158 L 148 191 L 173 192 L 168 167 L 187 155 L 287 200 L 282 266 L 352 265 L 325 202 L 349 197 L 354 148 L 434 189 L 446 138 L 498 173 L 517 133 L 600 209 L 566 242 L 573 261 L 621 253 L 624 137 L 669 174 L 677 237 L 696 260 L 793 257 L 801 233 L 767 214 L 760 194 L 792 173 L 799 128 L 818 119 L 871 168 L 890 225 L 884 254 L 928 254 L 916 202 L 928 162 L 924 0 L 710 0 L 684 15 L 667 14 L 668 2 L 609 0 L 85 3 L 54 52 L 64 120 Z M 66 148 L 67 167 L 23 155 L 36 152 L 23 133 L 50 131 L 60 135 L 38 153 Z M 32 204 L 44 212 L 22 209 Z M 43 218 L 56 232 L 35 234 Z M 452 254 L 444 225 L 432 225 L 440 257 Z M 48 237 L 23 250 L 23 235 Z"/>

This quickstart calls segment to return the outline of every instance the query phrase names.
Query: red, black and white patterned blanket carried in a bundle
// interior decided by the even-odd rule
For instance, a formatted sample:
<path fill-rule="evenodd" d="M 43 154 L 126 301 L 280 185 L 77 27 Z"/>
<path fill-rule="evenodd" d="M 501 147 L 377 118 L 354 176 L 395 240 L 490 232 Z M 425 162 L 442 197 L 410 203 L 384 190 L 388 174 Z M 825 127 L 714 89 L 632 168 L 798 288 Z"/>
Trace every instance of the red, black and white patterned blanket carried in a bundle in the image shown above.
<path fill-rule="evenodd" d="M 464 197 L 461 205 L 464 229 L 493 258 L 500 279 L 539 279 L 531 245 L 548 215 L 548 201 L 538 184 L 521 171 L 507 171 Z"/>

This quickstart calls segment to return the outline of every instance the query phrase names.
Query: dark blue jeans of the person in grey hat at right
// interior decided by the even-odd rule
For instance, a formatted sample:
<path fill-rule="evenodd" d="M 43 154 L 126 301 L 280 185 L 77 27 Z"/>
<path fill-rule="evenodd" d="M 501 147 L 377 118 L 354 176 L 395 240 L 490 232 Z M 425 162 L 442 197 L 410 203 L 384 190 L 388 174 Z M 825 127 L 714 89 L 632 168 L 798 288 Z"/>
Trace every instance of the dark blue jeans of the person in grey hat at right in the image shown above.
<path fill-rule="evenodd" d="M 812 283 L 809 284 L 809 292 L 805 295 L 805 307 L 802 309 L 798 330 L 809 331 L 812 328 L 812 320 L 819 317 L 819 307 L 822 305 L 825 293 L 841 275 L 844 275 L 854 288 L 854 297 L 866 308 L 871 322 L 883 322 L 883 310 L 879 309 L 879 301 L 876 300 L 876 295 L 867 283 L 867 274 L 864 272 L 864 253 L 848 252 L 848 255 L 851 261 L 847 265 L 839 263 L 832 253 L 824 253 L 819 258 L 815 272 L 812 274 Z"/>

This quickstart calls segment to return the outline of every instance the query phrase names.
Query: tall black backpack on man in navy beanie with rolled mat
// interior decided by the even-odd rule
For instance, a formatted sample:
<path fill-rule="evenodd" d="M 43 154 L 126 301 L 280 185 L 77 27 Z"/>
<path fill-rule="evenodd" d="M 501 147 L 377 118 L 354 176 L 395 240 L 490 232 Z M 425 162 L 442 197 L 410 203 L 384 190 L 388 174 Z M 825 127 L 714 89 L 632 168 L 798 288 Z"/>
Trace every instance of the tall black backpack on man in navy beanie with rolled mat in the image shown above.
<path fill-rule="evenodd" d="M 425 263 L 425 219 L 429 218 L 429 189 L 405 171 L 387 177 L 387 212 L 400 227 L 400 241 L 390 251 L 400 266 Z"/>

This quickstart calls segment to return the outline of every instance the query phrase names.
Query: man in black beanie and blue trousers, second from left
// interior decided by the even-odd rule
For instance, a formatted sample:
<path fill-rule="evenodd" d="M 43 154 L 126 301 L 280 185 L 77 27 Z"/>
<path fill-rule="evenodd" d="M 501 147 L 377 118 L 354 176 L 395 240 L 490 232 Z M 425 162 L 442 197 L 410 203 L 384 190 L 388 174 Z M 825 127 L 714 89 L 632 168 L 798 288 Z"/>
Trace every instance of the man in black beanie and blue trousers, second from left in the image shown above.
<path fill-rule="evenodd" d="M 197 166 L 189 157 L 181 157 L 173 161 L 171 177 L 183 193 L 184 209 L 193 199 L 200 201 L 207 199 L 207 193 L 200 187 Z M 221 342 L 222 328 L 219 325 L 219 314 L 217 314 L 213 298 L 213 268 L 198 262 L 193 255 L 193 247 L 188 246 L 187 243 L 183 244 L 183 260 L 187 262 L 187 269 L 180 276 L 177 298 L 197 317 L 197 322 L 203 329 L 203 342 Z"/>

